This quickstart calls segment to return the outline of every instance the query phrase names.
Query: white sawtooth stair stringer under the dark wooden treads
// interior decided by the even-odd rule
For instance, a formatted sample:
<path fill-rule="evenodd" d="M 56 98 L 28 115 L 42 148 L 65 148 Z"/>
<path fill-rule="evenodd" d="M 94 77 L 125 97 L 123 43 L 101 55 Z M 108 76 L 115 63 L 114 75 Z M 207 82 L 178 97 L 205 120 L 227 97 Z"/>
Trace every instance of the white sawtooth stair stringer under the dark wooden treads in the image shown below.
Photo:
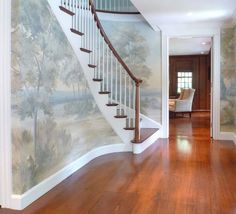
<path fill-rule="evenodd" d="M 108 95 L 98 94 L 100 90 L 100 83 L 93 81 L 93 69 L 88 67 L 89 62 L 89 54 L 84 53 L 80 50 L 81 48 L 81 36 L 74 34 L 70 31 L 71 28 L 71 16 L 62 12 L 59 9 L 60 0 L 48 0 L 48 3 L 59 22 L 62 31 L 65 33 L 74 53 L 76 54 L 82 70 L 84 72 L 85 78 L 88 82 L 88 86 L 90 91 L 98 105 L 98 108 L 102 112 L 103 116 L 107 120 L 107 122 L 111 125 L 113 130 L 117 133 L 117 135 L 121 138 L 121 140 L 127 144 L 128 147 L 132 150 L 131 140 L 134 138 L 134 131 L 132 130 L 124 130 L 126 126 L 126 119 L 120 118 L 116 119 L 114 116 L 116 115 L 116 107 L 108 107 L 106 106 L 108 102 Z"/>

